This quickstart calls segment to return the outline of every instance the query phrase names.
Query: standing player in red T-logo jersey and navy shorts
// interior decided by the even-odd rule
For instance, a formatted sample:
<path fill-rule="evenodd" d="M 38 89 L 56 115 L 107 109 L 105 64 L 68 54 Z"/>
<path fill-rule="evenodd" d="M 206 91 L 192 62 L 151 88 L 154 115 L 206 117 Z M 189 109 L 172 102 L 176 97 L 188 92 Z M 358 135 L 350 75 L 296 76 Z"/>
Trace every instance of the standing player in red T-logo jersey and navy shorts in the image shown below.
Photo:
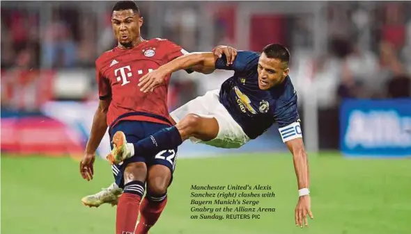
<path fill-rule="evenodd" d="M 112 11 L 111 23 L 118 46 L 104 52 L 95 62 L 100 103 L 80 162 L 80 173 L 87 181 L 93 178 L 95 151 L 107 127 L 111 142 L 117 131 L 122 131 L 128 142 L 138 142 L 173 126 L 167 108 L 170 76 L 166 76 L 164 83 L 152 92 L 141 92 L 137 84 L 144 74 L 185 53 L 182 47 L 169 40 L 144 40 L 140 35 L 143 18 L 133 1 L 118 1 Z M 196 67 L 187 70 L 193 71 L 209 72 Z M 112 166 L 116 184 L 123 188 L 123 194 L 118 193 L 121 196 L 116 215 L 117 234 L 148 233 L 150 226 L 157 222 L 166 205 L 176 152 L 177 148 L 162 151 L 153 155 L 153 160 L 132 157 Z M 146 197 L 141 201 L 146 189 Z M 141 217 L 136 228 L 139 212 Z"/>

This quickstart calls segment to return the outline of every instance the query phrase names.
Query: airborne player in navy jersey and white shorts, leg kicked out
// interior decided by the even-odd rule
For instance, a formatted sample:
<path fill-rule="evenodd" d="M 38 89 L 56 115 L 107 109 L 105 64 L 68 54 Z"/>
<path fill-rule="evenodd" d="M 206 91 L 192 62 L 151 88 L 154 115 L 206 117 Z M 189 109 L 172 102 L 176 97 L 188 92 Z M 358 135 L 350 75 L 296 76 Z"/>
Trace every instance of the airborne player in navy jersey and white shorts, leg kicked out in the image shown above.
<path fill-rule="evenodd" d="M 205 69 L 232 70 L 219 90 L 189 101 L 171 112 L 176 126 L 163 128 L 144 140 L 125 140 L 123 132 L 114 134 L 114 148 L 107 156 L 119 163 L 135 156 L 149 156 L 176 149 L 184 140 L 215 147 L 238 148 L 267 131 L 274 122 L 279 126 L 283 142 L 293 154 L 299 200 L 295 208 L 295 224 L 307 226 L 311 213 L 309 167 L 304 149 L 297 93 L 288 72 L 290 53 L 281 44 L 269 44 L 263 53 L 238 51 L 232 64 L 226 56 L 214 53 L 189 53 L 140 78 L 142 92 L 149 92 L 164 77 L 179 69 L 201 65 Z M 173 156 L 155 156 L 173 159 Z"/>

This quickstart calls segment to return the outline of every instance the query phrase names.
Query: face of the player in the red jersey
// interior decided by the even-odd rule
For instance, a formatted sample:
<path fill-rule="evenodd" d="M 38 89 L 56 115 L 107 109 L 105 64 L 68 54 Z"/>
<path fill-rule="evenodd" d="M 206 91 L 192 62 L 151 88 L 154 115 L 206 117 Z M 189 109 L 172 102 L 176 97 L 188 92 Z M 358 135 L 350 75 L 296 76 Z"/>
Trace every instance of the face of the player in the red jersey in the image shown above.
<path fill-rule="evenodd" d="M 143 18 L 137 13 L 134 14 L 131 9 L 115 10 L 111 15 L 111 25 L 118 44 L 126 48 L 130 48 L 138 42 L 142 24 Z"/>

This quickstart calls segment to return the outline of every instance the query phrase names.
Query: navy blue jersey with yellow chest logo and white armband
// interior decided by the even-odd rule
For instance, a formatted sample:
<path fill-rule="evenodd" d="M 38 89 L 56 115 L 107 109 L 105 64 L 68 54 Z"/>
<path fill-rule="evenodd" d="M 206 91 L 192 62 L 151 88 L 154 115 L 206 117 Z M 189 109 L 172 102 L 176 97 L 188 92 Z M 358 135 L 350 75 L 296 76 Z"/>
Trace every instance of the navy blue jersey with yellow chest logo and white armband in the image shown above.
<path fill-rule="evenodd" d="M 267 131 L 274 122 L 284 142 L 302 137 L 297 110 L 297 93 L 287 76 L 270 90 L 258 87 L 258 59 L 261 53 L 238 51 L 232 65 L 218 58 L 216 69 L 232 70 L 234 75 L 222 84 L 219 101 L 251 139 Z"/>

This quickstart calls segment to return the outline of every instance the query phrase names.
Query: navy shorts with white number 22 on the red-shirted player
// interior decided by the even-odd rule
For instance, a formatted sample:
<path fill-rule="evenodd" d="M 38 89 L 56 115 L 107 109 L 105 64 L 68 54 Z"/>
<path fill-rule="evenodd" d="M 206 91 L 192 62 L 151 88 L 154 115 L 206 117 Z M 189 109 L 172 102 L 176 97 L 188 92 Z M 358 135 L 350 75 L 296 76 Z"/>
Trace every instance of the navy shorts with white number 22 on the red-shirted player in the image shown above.
<path fill-rule="evenodd" d="M 153 135 L 157 131 L 160 131 L 163 128 L 168 128 L 168 127 L 169 125 L 157 124 L 153 122 L 141 122 L 141 121 L 118 122 L 118 124 L 116 124 L 114 128 L 111 128 L 110 142 L 112 140 L 112 136 L 117 131 L 123 131 L 123 133 L 125 134 L 125 138 L 127 139 L 127 143 L 136 143 L 139 140 L 142 140 L 150 135 Z M 111 143 L 110 145 L 111 145 L 111 149 L 113 149 L 113 145 Z M 178 148 L 176 147 L 175 149 L 160 151 L 153 155 L 146 156 L 146 158 L 142 156 L 133 156 L 131 158 L 127 158 L 126 160 L 119 163 L 118 165 L 112 165 L 111 169 L 113 170 L 116 184 L 118 185 L 118 187 L 123 188 L 124 170 L 125 170 L 125 167 L 127 167 L 127 164 L 131 162 L 145 162 L 147 165 L 147 169 L 153 165 L 164 165 L 170 169 L 171 181 L 172 181 L 174 168 L 176 167 L 177 149 Z"/>

